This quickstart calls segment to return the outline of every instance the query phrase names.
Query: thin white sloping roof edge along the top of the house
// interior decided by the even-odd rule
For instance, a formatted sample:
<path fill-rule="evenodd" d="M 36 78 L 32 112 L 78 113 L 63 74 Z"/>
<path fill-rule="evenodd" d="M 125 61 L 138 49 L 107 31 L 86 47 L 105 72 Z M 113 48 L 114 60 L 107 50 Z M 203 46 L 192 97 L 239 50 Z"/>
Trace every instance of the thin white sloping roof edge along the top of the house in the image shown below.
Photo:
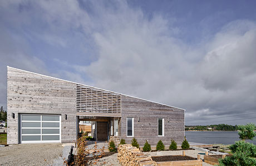
<path fill-rule="evenodd" d="M 101 88 L 99 88 L 99 87 L 94 87 L 94 86 L 90 86 L 90 85 L 81 84 L 81 83 L 78 83 L 78 82 L 73 82 L 73 81 L 58 79 L 58 78 L 56 78 L 56 77 L 52 77 L 52 76 L 48 76 L 48 75 L 43 75 L 43 74 L 38 74 L 38 73 L 32 72 L 32 71 L 17 69 L 17 68 L 13 68 L 13 67 L 10 67 L 10 66 L 7 66 L 7 68 L 12 68 L 12 69 L 16 69 L 16 70 L 21 70 L 21 71 L 24 71 L 24 72 L 30 72 L 31 74 L 36 74 L 36 75 L 41 75 L 41 76 L 45 76 L 45 77 L 50 77 L 51 79 L 57 79 L 57 80 L 61 80 L 61 81 L 67 81 L 67 82 L 71 82 L 71 83 L 73 83 L 73 84 L 79 84 L 79 85 L 83 85 L 83 86 L 88 86 L 88 87 L 92 87 L 92 88 L 95 88 L 95 89 L 104 90 L 104 91 L 112 92 L 112 93 L 115 93 L 115 94 L 120 94 L 120 95 L 124 95 L 124 96 L 128 96 L 128 97 L 133 97 L 133 98 L 137 98 L 137 99 L 145 100 L 145 101 L 149 101 L 149 102 L 154 102 L 154 103 L 157 103 L 157 104 L 160 104 L 160 105 L 164 105 L 164 106 L 168 106 L 168 107 L 173 107 L 173 108 L 178 108 L 178 109 L 180 109 L 180 110 L 186 111 L 186 110 L 183 109 L 183 108 L 174 107 L 174 106 L 169 106 L 169 105 L 166 105 L 166 104 L 163 104 L 163 103 L 159 103 L 159 102 L 155 102 L 155 101 L 146 100 L 146 99 L 139 98 L 139 97 L 129 96 L 129 95 L 121 94 L 121 93 L 118 93 L 118 92 L 114 92 L 114 91 L 110 91 L 110 90 L 101 89 Z"/>

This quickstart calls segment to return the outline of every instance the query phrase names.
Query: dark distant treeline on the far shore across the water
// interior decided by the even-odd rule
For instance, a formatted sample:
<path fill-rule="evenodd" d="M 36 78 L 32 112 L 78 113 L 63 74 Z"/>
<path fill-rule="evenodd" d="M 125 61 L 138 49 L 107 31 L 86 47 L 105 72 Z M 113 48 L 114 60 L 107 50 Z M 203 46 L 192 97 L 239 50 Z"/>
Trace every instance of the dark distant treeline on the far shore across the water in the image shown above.
<path fill-rule="evenodd" d="M 185 126 L 185 131 L 237 131 L 237 125 L 206 125 L 206 126 Z"/>

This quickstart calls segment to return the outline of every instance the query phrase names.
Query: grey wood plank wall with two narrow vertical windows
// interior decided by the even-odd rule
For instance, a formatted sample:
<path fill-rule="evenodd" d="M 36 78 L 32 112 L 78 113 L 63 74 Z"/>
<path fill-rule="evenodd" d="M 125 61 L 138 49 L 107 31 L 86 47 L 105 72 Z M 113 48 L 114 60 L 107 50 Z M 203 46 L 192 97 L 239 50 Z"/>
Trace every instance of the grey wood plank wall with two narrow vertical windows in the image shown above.
<path fill-rule="evenodd" d="M 169 146 L 171 139 L 181 144 L 184 139 L 184 110 L 169 107 L 139 98 L 122 95 L 121 138 L 131 143 L 126 137 L 126 118 L 134 117 L 134 137 L 142 147 L 145 140 L 156 146 L 161 139 Z M 140 121 L 138 122 L 138 118 Z M 157 136 L 157 118 L 164 118 L 164 137 Z M 168 122 L 169 118 L 169 122 Z M 166 147 L 168 148 L 168 147 Z"/>

